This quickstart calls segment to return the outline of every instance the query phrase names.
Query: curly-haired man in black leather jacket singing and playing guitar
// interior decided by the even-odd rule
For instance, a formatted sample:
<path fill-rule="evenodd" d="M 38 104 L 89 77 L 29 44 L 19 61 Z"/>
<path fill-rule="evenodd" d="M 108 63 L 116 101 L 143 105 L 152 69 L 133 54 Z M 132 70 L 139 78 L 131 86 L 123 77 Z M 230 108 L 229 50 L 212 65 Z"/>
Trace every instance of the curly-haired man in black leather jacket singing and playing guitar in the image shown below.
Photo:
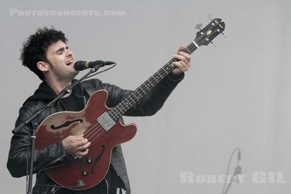
<path fill-rule="evenodd" d="M 74 78 L 79 71 L 74 69 L 74 55 L 66 47 L 66 41 L 67 39 L 63 32 L 56 31 L 53 27 L 51 29 L 45 27 L 38 29 L 23 44 L 21 53 L 22 65 L 30 68 L 43 82 L 20 108 L 16 126 L 30 117 L 34 111 L 48 104 L 65 87 L 76 81 Z M 178 53 L 173 56 L 178 60 L 178 62 L 172 64 L 175 67 L 174 70 L 124 115 L 153 115 L 162 108 L 164 101 L 178 82 L 183 79 L 184 72 L 190 67 L 190 55 L 181 52 L 182 49 L 184 49 L 184 46 L 181 46 L 178 49 Z M 100 89 L 105 89 L 109 94 L 106 101 L 108 107 L 116 106 L 132 92 L 123 90 L 115 85 L 102 83 L 97 79 L 83 81 L 76 85 L 69 94 L 66 94 L 53 106 L 32 120 L 30 127 L 24 127 L 17 133 L 13 131 L 14 135 L 11 139 L 7 162 L 7 168 L 11 175 L 13 177 L 26 175 L 26 157 L 27 153 L 29 153 L 28 158 L 30 158 L 31 154 L 30 148 L 27 147 L 27 143 L 30 141 L 28 134 L 32 134 L 32 128 L 37 129 L 38 125 L 52 113 L 81 111 L 90 95 Z M 57 185 L 47 176 L 45 169 L 74 160 L 72 155 L 85 156 L 89 149 L 90 142 L 81 134 L 68 136 L 62 141 L 55 142 L 43 149 L 35 150 L 33 159 L 33 172 L 37 173 L 35 185 Z M 96 186 L 84 191 L 36 186 L 33 189 L 33 194 L 113 194 L 116 191 L 130 193 L 129 179 L 120 145 L 113 148 L 109 171 Z"/>

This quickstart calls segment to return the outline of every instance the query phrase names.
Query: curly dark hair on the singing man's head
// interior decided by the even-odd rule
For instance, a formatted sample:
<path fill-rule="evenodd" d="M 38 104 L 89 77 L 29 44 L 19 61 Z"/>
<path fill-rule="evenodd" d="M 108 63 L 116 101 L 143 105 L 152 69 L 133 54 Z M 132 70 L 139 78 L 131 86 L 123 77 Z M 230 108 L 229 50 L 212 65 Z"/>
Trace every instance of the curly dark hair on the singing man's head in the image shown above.
<path fill-rule="evenodd" d="M 29 36 L 27 41 L 23 42 L 20 60 L 22 65 L 33 71 L 42 81 L 45 81 L 44 74 L 37 68 L 37 62 L 43 61 L 49 63 L 47 59 L 48 47 L 57 41 L 67 42 L 65 34 L 57 31 L 51 26 L 51 29 L 44 27 L 39 28 L 35 34 Z"/>

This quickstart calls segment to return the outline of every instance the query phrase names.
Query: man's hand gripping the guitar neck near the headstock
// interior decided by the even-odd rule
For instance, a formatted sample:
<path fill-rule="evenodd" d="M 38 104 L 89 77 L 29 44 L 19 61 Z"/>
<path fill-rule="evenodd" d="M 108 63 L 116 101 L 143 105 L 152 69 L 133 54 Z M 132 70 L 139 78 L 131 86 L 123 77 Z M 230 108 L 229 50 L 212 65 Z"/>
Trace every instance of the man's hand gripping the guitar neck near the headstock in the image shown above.
<path fill-rule="evenodd" d="M 185 49 L 184 45 L 181 45 L 177 51 L 177 54 L 173 55 L 174 59 L 177 59 L 177 62 L 173 62 L 171 65 L 175 67 L 172 71 L 173 74 L 180 74 L 187 71 L 190 67 L 191 56 L 182 50 Z"/>

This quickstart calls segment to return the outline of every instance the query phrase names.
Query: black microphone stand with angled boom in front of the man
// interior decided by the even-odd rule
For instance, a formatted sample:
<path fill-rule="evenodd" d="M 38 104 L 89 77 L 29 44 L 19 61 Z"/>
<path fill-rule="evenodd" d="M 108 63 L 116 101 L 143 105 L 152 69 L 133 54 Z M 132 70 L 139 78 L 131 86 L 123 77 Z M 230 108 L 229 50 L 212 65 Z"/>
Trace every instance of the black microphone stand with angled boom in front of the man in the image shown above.
<path fill-rule="evenodd" d="M 60 99 L 61 97 L 63 97 L 66 94 L 70 93 L 70 90 L 77 85 L 78 83 L 80 83 L 82 80 L 84 80 L 85 78 L 87 78 L 90 74 L 96 72 L 100 66 L 102 64 L 97 64 L 95 65 L 93 68 L 90 69 L 90 71 L 84 75 L 80 80 L 75 81 L 74 83 L 72 83 L 71 85 L 69 85 L 68 87 L 66 87 L 55 99 L 51 100 L 49 102 L 49 104 L 45 107 L 43 107 L 42 109 L 36 111 L 34 114 L 32 114 L 32 116 L 30 116 L 28 119 L 26 119 L 25 121 L 23 121 L 20 125 L 18 125 L 15 129 L 13 129 L 14 133 L 16 133 L 17 131 L 19 131 L 20 129 L 22 129 L 25 126 L 28 126 L 29 123 L 32 121 L 32 119 L 36 118 L 37 116 L 39 116 L 44 110 L 46 110 L 49 106 L 53 105 L 58 99 Z M 37 123 L 33 123 L 34 127 L 37 127 L 38 124 Z M 34 158 L 34 144 L 35 144 L 35 138 L 36 138 L 36 130 L 32 129 L 32 136 L 31 136 L 31 141 L 32 141 L 32 147 L 31 147 L 31 164 L 30 164 L 30 173 L 29 173 L 29 182 L 28 182 L 28 194 L 32 194 L 32 175 L 33 175 L 33 158 Z M 79 185 L 78 185 L 79 186 Z M 81 187 L 82 185 L 80 185 Z"/>

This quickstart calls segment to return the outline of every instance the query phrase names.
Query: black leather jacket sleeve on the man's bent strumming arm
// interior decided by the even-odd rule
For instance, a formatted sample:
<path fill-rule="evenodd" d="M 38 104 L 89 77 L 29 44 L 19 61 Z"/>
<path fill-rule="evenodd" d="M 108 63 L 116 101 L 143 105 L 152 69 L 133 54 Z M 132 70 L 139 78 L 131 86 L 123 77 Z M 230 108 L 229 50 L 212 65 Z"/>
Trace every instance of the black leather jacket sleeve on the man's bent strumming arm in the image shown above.
<path fill-rule="evenodd" d="M 15 126 L 31 115 L 32 112 L 25 105 L 21 107 Z M 17 131 L 11 139 L 7 168 L 13 177 L 23 177 L 27 174 L 27 162 L 29 166 L 31 158 L 31 138 L 29 134 L 32 135 L 32 127 L 24 127 Z M 70 160 L 70 157 L 65 153 L 62 141 L 56 142 L 34 151 L 33 173 L 70 162 Z"/>

